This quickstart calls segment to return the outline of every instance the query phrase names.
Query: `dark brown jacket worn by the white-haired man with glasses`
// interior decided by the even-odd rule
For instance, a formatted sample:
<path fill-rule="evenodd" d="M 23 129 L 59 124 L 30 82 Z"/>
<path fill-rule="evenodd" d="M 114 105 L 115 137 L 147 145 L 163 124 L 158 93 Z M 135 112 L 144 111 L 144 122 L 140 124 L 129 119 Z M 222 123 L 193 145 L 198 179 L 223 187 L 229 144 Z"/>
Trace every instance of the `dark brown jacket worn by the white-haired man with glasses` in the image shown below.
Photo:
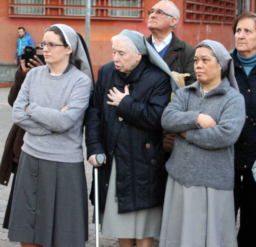
<path fill-rule="evenodd" d="M 147 41 L 151 44 L 152 35 L 147 38 Z M 195 48 L 185 41 L 179 40 L 172 32 L 172 42 L 164 55 L 164 61 L 171 71 L 190 74 L 190 77 L 185 80 L 186 85 L 190 85 L 197 80 L 194 71 L 194 56 Z"/>

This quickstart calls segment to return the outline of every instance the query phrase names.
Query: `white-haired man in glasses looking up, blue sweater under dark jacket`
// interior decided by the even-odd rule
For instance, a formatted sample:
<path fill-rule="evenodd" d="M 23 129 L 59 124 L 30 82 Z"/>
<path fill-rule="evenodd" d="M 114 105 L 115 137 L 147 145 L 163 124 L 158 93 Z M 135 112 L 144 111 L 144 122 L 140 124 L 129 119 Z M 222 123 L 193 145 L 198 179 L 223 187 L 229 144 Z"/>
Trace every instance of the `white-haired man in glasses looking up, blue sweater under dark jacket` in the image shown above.
<path fill-rule="evenodd" d="M 152 35 L 147 41 L 164 59 L 171 71 L 189 73 L 185 78 L 185 85 L 196 81 L 194 72 L 195 48 L 179 40 L 173 30 L 179 21 L 179 9 L 167 0 L 156 3 L 148 11 L 148 29 Z"/>

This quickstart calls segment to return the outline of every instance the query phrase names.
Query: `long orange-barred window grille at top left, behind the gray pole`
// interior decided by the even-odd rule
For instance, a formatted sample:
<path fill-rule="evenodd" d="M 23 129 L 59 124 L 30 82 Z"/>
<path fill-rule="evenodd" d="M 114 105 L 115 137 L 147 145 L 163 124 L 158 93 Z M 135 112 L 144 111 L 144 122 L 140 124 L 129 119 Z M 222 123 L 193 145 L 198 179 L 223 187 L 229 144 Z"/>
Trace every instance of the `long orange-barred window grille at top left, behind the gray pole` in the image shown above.
<path fill-rule="evenodd" d="M 91 0 L 91 19 L 144 20 L 145 0 Z M 9 17 L 84 19 L 87 0 L 9 0 Z"/>

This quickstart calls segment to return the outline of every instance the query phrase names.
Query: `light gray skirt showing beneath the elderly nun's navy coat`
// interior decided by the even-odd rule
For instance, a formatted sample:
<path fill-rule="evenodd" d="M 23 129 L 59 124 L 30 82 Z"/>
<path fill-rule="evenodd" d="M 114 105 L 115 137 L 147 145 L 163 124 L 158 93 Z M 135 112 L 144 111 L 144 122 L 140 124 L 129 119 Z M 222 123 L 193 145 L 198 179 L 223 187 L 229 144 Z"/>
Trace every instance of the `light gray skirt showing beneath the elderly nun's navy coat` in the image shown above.
<path fill-rule="evenodd" d="M 116 168 L 113 159 L 106 207 L 103 216 L 102 234 L 113 238 L 143 239 L 160 235 L 163 207 L 153 207 L 129 213 L 117 213 L 115 201 Z"/>

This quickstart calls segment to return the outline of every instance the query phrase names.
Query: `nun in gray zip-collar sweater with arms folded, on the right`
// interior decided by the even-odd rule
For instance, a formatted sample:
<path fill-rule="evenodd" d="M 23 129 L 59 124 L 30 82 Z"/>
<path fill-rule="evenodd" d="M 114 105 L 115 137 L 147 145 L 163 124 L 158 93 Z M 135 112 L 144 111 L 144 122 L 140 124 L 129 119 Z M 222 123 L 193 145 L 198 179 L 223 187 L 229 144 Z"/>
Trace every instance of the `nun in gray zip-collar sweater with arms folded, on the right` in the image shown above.
<path fill-rule="evenodd" d="M 219 42 L 197 46 L 194 69 L 197 81 L 177 90 L 162 115 L 176 137 L 159 246 L 236 247 L 233 145 L 245 121 L 244 98 Z"/>

